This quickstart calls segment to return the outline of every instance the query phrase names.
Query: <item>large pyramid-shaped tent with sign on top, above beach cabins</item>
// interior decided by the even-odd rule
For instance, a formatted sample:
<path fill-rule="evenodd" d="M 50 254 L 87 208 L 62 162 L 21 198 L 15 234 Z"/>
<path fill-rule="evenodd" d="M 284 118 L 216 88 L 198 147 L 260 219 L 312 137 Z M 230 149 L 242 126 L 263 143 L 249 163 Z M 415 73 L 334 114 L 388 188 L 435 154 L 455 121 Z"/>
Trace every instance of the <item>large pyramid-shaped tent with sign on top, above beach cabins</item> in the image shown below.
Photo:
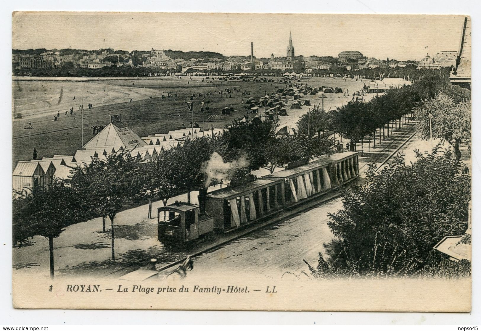
<path fill-rule="evenodd" d="M 84 149 L 124 147 L 132 149 L 147 145 L 135 132 L 120 121 L 120 115 L 112 115 L 110 123 L 83 146 Z"/>

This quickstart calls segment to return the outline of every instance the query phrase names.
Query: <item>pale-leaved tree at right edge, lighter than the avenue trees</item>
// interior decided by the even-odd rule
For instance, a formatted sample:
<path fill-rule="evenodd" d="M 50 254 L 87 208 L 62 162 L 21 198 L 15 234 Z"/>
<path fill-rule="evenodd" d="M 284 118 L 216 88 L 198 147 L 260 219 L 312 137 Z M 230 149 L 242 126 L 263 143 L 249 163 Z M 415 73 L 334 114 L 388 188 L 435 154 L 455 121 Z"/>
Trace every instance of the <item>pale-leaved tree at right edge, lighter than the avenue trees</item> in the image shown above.
<path fill-rule="evenodd" d="M 461 159 L 459 147 L 462 139 L 471 136 L 471 103 L 469 100 L 455 102 L 443 92 L 435 98 L 425 100 L 415 108 L 418 123 L 416 129 L 423 139 L 445 139 L 455 151 L 456 160 Z M 431 124 L 430 124 L 431 122 Z"/>

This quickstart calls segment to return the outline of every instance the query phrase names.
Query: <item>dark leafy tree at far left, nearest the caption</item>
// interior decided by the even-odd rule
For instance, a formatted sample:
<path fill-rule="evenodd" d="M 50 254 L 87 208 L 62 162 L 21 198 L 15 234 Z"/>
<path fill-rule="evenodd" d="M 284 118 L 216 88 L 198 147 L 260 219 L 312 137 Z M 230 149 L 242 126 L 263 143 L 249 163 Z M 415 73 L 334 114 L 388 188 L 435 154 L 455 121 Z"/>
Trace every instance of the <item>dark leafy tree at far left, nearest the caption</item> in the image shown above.
<path fill-rule="evenodd" d="M 40 186 L 23 199 L 13 201 L 14 242 L 25 242 L 28 237 L 40 235 L 49 240 L 50 277 L 54 275 L 53 239 L 67 226 L 87 221 L 82 198 L 64 181 L 53 181 Z"/>

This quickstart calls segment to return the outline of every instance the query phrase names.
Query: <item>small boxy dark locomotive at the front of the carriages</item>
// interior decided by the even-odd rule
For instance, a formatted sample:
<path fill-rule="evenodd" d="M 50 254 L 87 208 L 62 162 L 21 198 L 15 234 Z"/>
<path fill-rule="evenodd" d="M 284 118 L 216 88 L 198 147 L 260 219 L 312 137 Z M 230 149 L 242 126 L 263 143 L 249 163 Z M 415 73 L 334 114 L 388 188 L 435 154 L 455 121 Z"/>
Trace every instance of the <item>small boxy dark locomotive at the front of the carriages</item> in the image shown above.
<path fill-rule="evenodd" d="M 187 243 L 214 231 L 214 219 L 185 202 L 157 208 L 157 224 L 159 241 Z"/>

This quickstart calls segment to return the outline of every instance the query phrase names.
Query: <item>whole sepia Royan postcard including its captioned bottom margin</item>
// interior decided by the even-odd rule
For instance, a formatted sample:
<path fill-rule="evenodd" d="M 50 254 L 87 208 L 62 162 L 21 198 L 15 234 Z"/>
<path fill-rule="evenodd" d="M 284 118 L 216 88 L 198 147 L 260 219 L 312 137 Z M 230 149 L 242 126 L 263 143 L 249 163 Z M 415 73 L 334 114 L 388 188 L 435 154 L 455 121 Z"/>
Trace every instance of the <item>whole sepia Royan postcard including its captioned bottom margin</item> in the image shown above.
<path fill-rule="evenodd" d="M 471 309 L 468 15 L 13 12 L 13 306 Z"/>

